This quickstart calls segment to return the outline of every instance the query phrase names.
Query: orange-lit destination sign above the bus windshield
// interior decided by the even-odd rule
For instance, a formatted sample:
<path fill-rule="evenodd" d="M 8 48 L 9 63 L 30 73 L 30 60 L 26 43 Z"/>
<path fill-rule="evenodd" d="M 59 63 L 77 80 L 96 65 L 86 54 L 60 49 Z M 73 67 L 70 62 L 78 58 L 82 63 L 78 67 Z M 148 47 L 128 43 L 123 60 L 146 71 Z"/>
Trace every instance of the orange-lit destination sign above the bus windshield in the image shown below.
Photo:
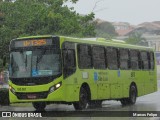
<path fill-rule="evenodd" d="M 52 39 L 32 39 L 15 41 L 15 47 L 32 47 L 32 46 L 46 46 L 52 45 Z"/>

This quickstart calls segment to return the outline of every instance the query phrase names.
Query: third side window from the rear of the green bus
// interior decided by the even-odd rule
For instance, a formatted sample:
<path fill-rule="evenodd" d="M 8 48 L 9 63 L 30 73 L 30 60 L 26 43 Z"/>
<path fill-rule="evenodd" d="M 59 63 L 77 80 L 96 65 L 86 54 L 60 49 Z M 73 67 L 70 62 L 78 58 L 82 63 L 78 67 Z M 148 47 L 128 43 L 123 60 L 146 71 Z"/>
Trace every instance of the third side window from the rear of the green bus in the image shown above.
<path fill-rule="evenodd" d="M 130 67 L 131 67 L 131 69 L 133 69 L 133 70 L 140 69 L 138 51 L 130 50 L 129 54 L 130 54 Z"/>

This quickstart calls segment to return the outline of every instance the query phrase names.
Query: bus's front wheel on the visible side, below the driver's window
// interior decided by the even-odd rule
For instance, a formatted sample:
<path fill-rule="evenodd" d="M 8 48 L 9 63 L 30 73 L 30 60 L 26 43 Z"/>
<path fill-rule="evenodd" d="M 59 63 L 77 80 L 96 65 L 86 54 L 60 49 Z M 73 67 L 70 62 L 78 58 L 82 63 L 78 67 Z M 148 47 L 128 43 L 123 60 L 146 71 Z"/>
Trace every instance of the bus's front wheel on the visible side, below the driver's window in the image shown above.
<path fill-rule="evenodd" d="M 74 102 L 73 106 L 75 110 L 83 110 L 87 107 L 87 103 L 88 103 L 88 92 L 84 87 L 81 87 L 79 93 L 79 101 Z"/>

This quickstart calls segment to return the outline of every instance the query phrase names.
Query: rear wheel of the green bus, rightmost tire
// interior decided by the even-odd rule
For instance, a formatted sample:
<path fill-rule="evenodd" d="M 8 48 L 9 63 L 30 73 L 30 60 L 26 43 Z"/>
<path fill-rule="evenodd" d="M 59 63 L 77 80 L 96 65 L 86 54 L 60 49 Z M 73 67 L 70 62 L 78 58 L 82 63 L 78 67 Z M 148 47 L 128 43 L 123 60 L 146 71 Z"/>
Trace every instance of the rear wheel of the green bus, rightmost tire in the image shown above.
<path fill-rule="evenodd" d="M 129 91 L 129 98 L 128 98 L 128 104 L 133 105 L 136 103 L 137 98 L 137 89 L 135 85 L 131 85 L 130 91 Z"/>

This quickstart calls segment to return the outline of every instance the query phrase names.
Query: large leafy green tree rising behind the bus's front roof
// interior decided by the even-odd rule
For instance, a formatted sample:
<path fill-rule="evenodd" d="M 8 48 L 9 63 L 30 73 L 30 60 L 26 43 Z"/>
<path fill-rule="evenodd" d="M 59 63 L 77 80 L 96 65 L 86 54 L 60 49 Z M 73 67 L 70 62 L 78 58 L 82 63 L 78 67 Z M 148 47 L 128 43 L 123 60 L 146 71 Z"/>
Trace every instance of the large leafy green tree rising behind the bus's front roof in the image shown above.
<path fill-rule="evenodd" d="M 12 37 L 38 34 L 95 36 L 94 14 L 81 16 L 63 5 L 67 0 L 16 0 L 2 2 L 3 26 Z M 72 0 L 76 2 L 77 0 Z"/>

